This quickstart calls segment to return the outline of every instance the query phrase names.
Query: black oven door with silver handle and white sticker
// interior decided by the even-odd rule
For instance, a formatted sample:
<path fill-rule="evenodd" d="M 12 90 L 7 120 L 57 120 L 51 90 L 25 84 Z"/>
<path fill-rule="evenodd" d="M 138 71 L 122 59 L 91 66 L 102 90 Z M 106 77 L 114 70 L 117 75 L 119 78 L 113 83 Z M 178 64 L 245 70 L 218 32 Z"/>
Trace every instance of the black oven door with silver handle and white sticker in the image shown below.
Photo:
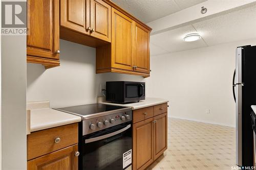
<path fill-rule="evenodd" d="M 121 170 L 132 164 L 132 123 L 83 137 L 82 169 Z"/>

